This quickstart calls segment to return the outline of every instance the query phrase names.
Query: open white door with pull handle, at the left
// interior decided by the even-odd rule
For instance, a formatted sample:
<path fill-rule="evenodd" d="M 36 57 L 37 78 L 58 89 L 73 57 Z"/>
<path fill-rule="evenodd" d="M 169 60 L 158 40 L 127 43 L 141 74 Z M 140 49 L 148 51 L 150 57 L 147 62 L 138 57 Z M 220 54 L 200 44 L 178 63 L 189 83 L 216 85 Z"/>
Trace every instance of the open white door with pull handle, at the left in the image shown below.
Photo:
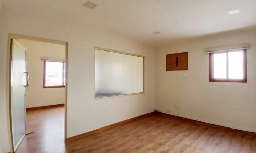
<path fill-rule="evenodd" d="M 26 135 L 25 87 L 28 86 L 26 72 L 26 49 L 15 39 L 11 40 L 10 117 L 13 151 Z"/>

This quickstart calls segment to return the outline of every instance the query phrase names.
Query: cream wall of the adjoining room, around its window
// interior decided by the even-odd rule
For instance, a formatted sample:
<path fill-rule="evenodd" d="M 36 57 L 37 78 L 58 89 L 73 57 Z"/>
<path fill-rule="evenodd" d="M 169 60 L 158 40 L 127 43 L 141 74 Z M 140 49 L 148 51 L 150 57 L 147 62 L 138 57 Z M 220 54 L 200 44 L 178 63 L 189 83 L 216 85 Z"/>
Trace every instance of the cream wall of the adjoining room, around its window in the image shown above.
<path fill-rule="evenodd" d="M 26 87 L 26 108 L 65 103 L 65 88 L 42 88 L 44 61 L 41 58 L 65 61 L 65 46 L 53 43 L 19 39 L 27 49 L 27 72 L 29 86 Z"/>

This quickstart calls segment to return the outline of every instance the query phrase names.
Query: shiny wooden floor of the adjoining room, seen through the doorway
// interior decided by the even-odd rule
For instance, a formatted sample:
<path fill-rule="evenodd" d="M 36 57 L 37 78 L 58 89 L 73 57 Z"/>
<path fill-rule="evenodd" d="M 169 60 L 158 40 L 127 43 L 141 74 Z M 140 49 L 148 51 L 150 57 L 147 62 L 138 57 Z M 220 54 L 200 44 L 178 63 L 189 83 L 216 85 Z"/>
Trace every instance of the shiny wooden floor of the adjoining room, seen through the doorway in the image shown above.
<path fill-rule="evenodd" d="M 27 132 L 17 149 L 25 152 L 65 152 L 64 143 L 64 107 L 27 110 Z"/>

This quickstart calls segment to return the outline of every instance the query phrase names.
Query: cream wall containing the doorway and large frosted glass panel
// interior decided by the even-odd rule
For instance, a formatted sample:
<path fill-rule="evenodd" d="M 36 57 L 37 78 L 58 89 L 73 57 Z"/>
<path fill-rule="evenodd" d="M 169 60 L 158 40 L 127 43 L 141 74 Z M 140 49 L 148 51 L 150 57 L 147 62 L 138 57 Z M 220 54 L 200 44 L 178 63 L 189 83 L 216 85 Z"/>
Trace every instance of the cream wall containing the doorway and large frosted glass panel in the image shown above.
<path fill-rule="evenodd" d="M 152 112 L 155 106 L 155 48 L 109 33 L 89 30 L 79 23 L 54 24 L 47 19 L 4 10 L 0 35 L 0 109 L 2 151 L 9 151 L 7 129 L 8 33 L 67 41 L 68 131 L 71 137 L 99 127 Z M 2 24 L 2 25 L 1 25 Z M 145 56 L 145 93 L 94 99 L 94 47 Z M 2 122 L 3 120 L 3 122 Z M 3 141 L 3 142 L 2 142 Z"/>

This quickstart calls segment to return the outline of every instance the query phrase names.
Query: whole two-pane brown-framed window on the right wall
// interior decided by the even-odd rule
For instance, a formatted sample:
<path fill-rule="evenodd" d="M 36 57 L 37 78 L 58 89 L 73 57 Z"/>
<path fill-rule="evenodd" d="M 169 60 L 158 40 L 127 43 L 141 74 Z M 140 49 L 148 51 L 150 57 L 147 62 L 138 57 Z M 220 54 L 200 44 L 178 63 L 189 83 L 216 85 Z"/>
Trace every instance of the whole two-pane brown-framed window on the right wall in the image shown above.
<path fill-rule="evenodd" d="M 209 53 L 211 82 L 247 82 L 246 49 Z"/>

